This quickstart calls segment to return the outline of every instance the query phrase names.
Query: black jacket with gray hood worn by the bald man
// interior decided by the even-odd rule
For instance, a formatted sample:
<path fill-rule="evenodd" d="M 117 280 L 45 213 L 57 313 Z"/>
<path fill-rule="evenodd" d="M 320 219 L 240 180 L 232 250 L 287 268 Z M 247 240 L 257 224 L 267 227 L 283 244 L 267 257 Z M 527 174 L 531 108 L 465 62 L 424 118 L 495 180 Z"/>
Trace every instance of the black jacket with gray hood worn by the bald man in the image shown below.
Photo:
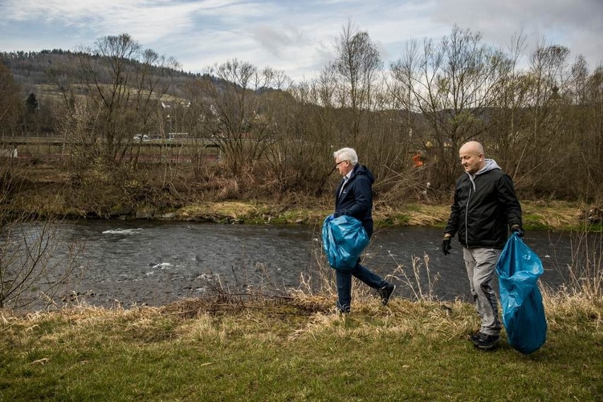
<path fill-rule="evenodd" d="M 445 233 L 459 234 L 467 247 L 503 248 L 507 226 L 522 224 L 522 208 L 511 178 L 492 159 L 475 176 L 456 180 L 454 203 Z"/>

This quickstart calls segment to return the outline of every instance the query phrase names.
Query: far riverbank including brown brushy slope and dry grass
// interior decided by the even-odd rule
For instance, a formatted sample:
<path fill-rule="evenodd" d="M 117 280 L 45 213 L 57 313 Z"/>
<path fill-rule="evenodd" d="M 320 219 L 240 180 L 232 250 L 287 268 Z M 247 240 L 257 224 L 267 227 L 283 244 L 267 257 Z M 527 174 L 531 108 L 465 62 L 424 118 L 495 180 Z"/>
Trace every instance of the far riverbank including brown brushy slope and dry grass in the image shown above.
<path fill-rule="evenodd" d="M 188 176 L 157 183 L 159 173 L 142 169 L 120 180 L 110 180 L 108 173 L 101 172 L 77 178 L 56 163 L 17 164 L 4 175 L 6 191 L 0 197 L 0 216 L 35 214 L 59 219 L 321 224 L 333 212 L 330 192 L 322 196 L 273 192 L 263 195 L 261 188 L 254 188 L 255 192 L 250 195 L 237 184 L 246 183 L 242 179 L 227 179 L 216 174 L 202 183 Z M 585 202 L 521 197 L 520 200 L 524 226 L 528 230 L 581 228 L 593 207 Z M 375 197 L 373 217 L 377 227 L 445 226 L 449 212 L 449 201 L 438 201 L 437 197 L 425 195 L 425 200 L 408 201 L 385 194 Z M 602 229 L 603 217 L 597 216 L 597 219 L 598 223 L 589 230 Z"/>

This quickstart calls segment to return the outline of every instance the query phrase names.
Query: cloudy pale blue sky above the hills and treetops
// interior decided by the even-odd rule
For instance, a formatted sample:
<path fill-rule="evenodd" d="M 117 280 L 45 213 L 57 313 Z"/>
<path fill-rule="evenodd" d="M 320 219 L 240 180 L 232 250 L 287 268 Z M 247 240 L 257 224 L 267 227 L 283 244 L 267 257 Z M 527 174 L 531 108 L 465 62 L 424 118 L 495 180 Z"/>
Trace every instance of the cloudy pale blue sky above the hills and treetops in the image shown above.
<path fill-rule="evenodd" d="M 503 50 L 521 31 L 527 53 L 563 45 L 570 62 L 603 64 L 603 0 L 0 0 L 0 51 L 75 50 L 128 33 L 184 71 L 236 58 L 299 82 L 334 58 L 348 22 L 386 68 L 408 40 L 440 40 L 455 24 Z"/>

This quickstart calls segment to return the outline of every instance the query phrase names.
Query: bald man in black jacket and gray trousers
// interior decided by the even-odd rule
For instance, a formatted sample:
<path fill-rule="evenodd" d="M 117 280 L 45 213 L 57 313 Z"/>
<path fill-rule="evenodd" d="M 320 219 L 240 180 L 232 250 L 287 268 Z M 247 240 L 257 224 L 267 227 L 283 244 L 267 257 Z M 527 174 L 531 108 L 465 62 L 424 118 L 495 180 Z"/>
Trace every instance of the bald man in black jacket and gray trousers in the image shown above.
<path fill-rule="evenodd" d="M 495 267 L 507 242 L 508 231 L 523 236 L 522 209 L 511 178 L 492 159 L 486 159 L 479 142 L 459 149 L 465 173 L 456 179 L 454 203 L 444 231 L 442 252 L 458 234 L 471 294 L 481 318 L 479 331 L 469 336 L 473 345 L 490 350 L 500 343 L 498 299 L 493 287 Z"/>

